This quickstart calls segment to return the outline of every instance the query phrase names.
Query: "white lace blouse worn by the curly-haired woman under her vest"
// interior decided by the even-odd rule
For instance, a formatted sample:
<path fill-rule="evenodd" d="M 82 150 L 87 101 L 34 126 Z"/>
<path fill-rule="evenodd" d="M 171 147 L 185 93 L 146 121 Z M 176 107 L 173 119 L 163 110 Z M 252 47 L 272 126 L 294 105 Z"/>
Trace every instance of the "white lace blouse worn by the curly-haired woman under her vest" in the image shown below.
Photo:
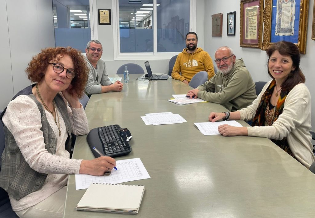
<path fill-rule="evenodd" d="M 65 99 L 64 99 L 65 100 Z M 66 105 L 68 103 L 65 100 Z M 67 106 L 72 133 L 84 135 L 88 133 L 88 120 L 83 107 L 79 109 Z M 46 173 L 47 178 L 41 189 L 16 200 L 10 197 L 13 210 L 27 209 L 62 187 L 66 186 L 68 174 L 78 174 L 82 160 L 70 159 L 69 152 L 65 149 L 66 125 L 58 111 L 57 122 L 60 124 L 61 135 L 54 122 L 53 116 L 46 112 L 49 125 L 52 127 L 56 138 L 56 154 L 51 154 L 45 149 L 43 132 L 40 130 L 41 115 L 36 103 L 26 95 L 20 95 L 11 101 L 3 116 L 3 123 L 13 134 L 20 151 L 30 167 L 37 172 Z"/>

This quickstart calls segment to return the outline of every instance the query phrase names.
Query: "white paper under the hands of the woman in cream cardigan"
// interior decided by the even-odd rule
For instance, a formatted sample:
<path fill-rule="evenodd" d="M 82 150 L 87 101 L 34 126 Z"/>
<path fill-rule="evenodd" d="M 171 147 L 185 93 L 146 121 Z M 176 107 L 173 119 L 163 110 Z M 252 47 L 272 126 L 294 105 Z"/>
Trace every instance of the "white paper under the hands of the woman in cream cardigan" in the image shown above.
<path fill-rule="evenodd" d="M 194 123 L 199 131 L 203 135 L 220 135 L 218 131 L 218 127 L 223 124 L 228 124 L 233 127 L 242 127 L 241 124 L 238 122 L 231 120 L 231 121 L 220 121 L 220 122 L 205 122 L 205 123 Z"/>

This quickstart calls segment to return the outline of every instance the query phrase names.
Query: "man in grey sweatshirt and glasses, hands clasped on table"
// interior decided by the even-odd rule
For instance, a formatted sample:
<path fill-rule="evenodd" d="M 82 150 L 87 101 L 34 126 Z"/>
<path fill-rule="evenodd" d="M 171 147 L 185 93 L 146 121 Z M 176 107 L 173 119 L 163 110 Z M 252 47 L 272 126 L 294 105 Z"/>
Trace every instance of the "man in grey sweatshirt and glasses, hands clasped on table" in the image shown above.
<path fill-rule="evenodd" d="M 86 45 L 86 62 L 89 68 L 88 80 L 85 92 L 91 94 L 104 93 L 108 91 L 122 91 L 123 84 L 120 81 L 112 83 L 106 73 L 106 65 L 101 59 L 103 47 L 100 41 L 91 40 Z"/>

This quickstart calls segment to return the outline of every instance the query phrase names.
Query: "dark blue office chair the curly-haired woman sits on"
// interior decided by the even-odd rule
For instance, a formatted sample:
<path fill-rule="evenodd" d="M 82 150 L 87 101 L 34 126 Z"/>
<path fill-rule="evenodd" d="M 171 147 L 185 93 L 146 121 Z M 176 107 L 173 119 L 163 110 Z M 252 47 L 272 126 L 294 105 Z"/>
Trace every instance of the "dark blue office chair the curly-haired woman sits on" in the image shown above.
<path fill-rule="evenodd" d="M 0 114 L 2 110 L 0 111 Z M 3 123 L 0 121 L 0 157 L 2 156 L 4 150 L 4 131 L 3 131 Z M 0 166 L 1 170 L 1 166 Z M 0 217 L 7 217 L 7 218 L 16 218 L 18 217 L 15 212 L 12 210 L 10 199 L 8 193 L 0 187 Z"/>

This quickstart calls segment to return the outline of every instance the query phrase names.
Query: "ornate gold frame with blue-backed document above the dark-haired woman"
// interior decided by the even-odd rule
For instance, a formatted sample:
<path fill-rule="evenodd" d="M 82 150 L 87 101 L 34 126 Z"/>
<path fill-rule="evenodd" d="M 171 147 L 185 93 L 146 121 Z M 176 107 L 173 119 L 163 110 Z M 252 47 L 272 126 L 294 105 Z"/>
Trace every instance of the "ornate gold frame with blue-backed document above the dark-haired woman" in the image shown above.
<path fill-rule="evenodd" d="M 287 5 L 291 6 L 287 8 Z M 284 40 L 296 44 L 300 53 L 305 54 L 307 16 L 308 0 L 265 0 L 264 38 L 261 50 Z"/>

